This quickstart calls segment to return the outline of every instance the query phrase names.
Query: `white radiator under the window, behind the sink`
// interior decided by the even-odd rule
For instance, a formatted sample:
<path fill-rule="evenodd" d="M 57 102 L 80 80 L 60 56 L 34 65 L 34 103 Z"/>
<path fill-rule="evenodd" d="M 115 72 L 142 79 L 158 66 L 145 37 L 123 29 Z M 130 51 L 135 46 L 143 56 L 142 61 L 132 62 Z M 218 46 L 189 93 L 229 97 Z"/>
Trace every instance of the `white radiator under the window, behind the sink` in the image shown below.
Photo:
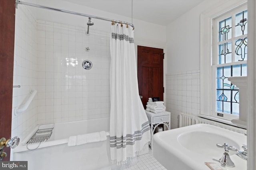
<path fill-rule="evenodd" d="M 235 131 L 238 133 L 246 133 L 246 129 L 242 129 L 239 127 L 234 127 L 231 125 L 226 125 L 224 123 L 220 123 L 217 121 L 212 121 L 212 120 L 208 120 L 208 119 L 204 119 L 202 117 L 198 117 L 196 115 L 191 115 L 191 114 L 187 114 L 187 113 L 180 113 L 180 126 L 179 127 L 184 127 L 184 126 L 189 126 L 189 125 L 194 125 L 194 124 L 198 124 L 198 123 L 205 123 L 205 124 L 210 124 L 210 125 L 215 125 L 218 127 L 222 127 L 224 129 L 228 129 L 230 131 Z"/>

